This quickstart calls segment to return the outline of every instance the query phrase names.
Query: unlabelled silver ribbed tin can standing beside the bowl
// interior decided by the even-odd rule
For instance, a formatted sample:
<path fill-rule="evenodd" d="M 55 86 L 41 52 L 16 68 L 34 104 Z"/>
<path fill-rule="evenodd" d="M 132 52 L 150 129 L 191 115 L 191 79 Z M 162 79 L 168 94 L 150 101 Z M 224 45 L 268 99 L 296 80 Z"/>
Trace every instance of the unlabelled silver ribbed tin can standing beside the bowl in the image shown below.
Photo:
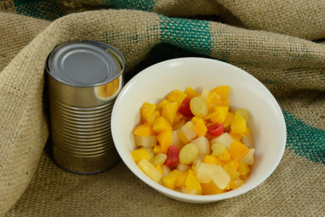
<path fill-rule="evenodd" d="M 124 66 L 118 50 L 95 41 L 67 42 L 49 55 L 51 136 L 59 167 L 91 174 L 119 160 L 110 119 Z"/>

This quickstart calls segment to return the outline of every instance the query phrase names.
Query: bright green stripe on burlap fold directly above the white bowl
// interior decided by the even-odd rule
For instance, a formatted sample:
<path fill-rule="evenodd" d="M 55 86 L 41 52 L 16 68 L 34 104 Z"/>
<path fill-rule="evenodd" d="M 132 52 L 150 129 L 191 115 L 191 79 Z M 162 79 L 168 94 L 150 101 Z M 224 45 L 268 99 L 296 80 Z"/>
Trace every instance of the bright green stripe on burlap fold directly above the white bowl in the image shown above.
<path fill-rule="evenodd" d="M 161 40 L 202 55 L 211 54 L 212 34 L 208 21 L 168 18 L 161 20 Z"/>

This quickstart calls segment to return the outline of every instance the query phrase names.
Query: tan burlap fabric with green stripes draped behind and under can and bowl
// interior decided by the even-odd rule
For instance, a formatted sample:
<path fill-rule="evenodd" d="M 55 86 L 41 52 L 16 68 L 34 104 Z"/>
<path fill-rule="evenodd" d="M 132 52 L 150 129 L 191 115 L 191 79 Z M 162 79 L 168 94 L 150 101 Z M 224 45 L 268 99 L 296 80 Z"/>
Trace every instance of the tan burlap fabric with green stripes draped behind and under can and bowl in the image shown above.
<path fill-rule="evenodd" d="M 324 1 L 5 0 L 0 11 L 0 215 L 325 215 Z M 279 166 L 249 193 L 210 204 L 165 197 L 123 162 L 95 175 L 58 168 L 46 146 L 44 66 L 55 46 L 84 39 L 120 50 L 127 80 L 183 56 L 248 71 L 286 119 Z"/>

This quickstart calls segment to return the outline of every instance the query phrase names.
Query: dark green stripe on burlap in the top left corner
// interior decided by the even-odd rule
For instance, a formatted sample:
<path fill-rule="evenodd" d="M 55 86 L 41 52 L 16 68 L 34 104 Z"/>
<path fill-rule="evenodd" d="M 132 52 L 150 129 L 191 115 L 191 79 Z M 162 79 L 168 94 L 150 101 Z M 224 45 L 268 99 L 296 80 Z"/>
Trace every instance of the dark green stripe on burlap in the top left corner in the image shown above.
<path fill-rule="evenodd" d="M 40 0 L 14 0 L 17 13 L 38 19 L 55 20 L 63 13 L 59 7 L 58 1 L 40 1 Z"/>

